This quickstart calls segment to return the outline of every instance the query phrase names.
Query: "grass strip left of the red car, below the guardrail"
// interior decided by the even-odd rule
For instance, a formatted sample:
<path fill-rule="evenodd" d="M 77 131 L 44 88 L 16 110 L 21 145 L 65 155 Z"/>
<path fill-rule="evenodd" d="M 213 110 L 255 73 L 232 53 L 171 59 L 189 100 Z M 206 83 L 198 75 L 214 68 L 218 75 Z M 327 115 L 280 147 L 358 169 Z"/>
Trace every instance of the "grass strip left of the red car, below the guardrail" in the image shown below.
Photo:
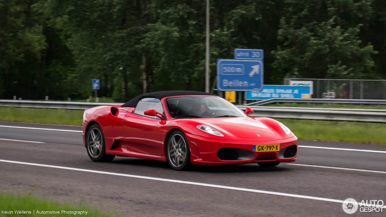
<path fill-rule="evenodd" d="M 82 125 L 83 110 L 0 107 L 0 120 L 37 124 Z"/>

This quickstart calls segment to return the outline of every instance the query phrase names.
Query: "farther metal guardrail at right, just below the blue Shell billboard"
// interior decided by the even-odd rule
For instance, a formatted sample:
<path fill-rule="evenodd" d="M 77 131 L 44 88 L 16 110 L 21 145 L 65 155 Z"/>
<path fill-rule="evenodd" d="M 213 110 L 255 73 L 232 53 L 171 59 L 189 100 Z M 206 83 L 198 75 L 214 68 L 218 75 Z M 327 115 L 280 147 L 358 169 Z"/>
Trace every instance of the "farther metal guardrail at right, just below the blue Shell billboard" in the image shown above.
<path fill-rule="evenodd" d="M 252 102 L 245 105 L 266 105 L 276 102 L 295 102 L 295 103 L 340 103 L 340 104 L 378 104 L 386 105 L 386 100 L 349 100 L 349 99 L 288 99 L 288 98 L 272 98 L 268 100 L 261 100 L 259 102 Z"/>

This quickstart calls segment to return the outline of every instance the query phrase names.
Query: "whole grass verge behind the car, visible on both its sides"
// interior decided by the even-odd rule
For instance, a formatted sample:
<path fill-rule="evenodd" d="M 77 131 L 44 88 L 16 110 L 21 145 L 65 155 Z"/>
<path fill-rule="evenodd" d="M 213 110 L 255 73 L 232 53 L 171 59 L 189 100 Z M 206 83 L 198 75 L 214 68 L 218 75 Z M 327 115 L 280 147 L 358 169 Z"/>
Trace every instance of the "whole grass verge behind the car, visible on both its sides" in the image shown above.
<path fill-rule="evenodd" d="M 40 124 L 81 125 L 82 110 L 0 107 L 0 120 Z M 386 144 L 386 124 L 278 119 L 299 139 Z"/>

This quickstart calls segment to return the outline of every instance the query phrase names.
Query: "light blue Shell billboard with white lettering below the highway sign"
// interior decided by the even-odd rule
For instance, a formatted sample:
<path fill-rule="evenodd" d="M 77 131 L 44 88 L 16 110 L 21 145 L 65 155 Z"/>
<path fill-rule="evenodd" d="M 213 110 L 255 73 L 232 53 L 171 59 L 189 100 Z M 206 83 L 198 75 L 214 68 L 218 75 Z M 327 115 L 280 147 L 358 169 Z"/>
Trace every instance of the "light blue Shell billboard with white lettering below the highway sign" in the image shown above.
<path fill-rule="evenodd" d="M 308 86 L 263 85 L 261 91 L 247 91 L 247 100 L 271 98 L 311 98 Z"/>

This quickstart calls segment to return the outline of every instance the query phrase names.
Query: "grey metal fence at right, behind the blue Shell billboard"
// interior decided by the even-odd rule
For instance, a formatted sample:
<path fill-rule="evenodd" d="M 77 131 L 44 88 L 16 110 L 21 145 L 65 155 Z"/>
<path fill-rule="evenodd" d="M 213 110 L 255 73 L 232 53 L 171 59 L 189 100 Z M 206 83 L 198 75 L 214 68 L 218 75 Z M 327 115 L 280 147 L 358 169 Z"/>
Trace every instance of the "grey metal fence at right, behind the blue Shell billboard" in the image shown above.
<path fill-rule="evenodd" d="M 284 78 L 284 85 L 291 81 L 313 81 L 312 98 L 386 100 L 386 80 Z"/>

